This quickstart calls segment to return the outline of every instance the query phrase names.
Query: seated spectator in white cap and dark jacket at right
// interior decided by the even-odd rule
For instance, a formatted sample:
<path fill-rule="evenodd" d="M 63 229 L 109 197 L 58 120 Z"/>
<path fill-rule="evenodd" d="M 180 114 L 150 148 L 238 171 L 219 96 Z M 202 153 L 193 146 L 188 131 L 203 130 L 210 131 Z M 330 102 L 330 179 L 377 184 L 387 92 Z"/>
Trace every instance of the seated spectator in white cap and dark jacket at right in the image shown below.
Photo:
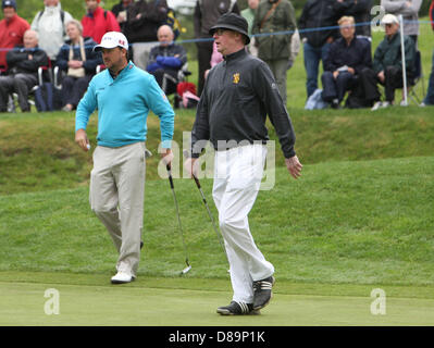
<path fill-rule="evenodd" d="M 385 27 L 385 38 L 380 42 L 374 53 L 373 69 L 364 69 L 360 73 L 364 98 L 375 101 L 372 110 L 387 108 L 394 103 L 395 90 L 402 88 L 402 58 L 399 21 L 393 14 L 383 16 L 381 24 Z M 407 82 L 411 84 L 414 71 L 414 42 L 409 36 L 404 36 Z M 385 101 L 380 101 L 376 84 L 385 86 Z"/>

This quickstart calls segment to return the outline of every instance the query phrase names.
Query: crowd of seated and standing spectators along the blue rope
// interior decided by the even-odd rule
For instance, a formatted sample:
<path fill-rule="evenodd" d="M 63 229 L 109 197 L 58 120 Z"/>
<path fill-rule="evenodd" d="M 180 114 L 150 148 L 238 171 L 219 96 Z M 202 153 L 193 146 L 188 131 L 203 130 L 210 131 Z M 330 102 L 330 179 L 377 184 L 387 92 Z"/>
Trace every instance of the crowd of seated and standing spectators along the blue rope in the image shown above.
<path fill-rule="evenodd" d="M 60 0 L 44 0 L 44 9 L 29 24 L 17 14 L 15 0 L 2 0 L 0 112 L 8 111 L 13 92 L 18 96 L 21 110 L 29 110 L 27 97 L 39 83 L 37 74 L 41 67 L 55 72 L 57 86 L 62 90 L 61 109 L 74 110 L 102 66 L 100 53 L 92 48 L 107 32 L 123 32 L 131 44 L 129 59 L 154 75 L 166 94 L 176 92 L 187 52 L 183 46 L 175 45 L 174 32 L 168 25 L 171 9 L 166 0 L 121 0 L 111 11 L 101 8 L 100 0 L 84 2 L 86 13 L 78 21 L 62 9 Z M 407 86 L 414 82 L 421 4 L 421 0 L 381 0 L 386 13 L 381 21 L 385 37 L 373 50 L 373 0 L 308 0 L 298 21 L 290 0 L 248 0 L 243 11 L 236 0 L 197 0 L 193 24 L 197 39 L 198 96 L 208 71 L 223 60 L 209 29 L 223 13 L 235 12 L 245 16 L 249 24 L 248 51 L 268 63 L 284 101 L 287 71 L 301 47 L 307 109 L 369 107 L 376 110 L 392 105 L 395 90 L 404 88 L 405 82 Z M 433 12 L 434 1 L 430 8 L 431 20 Z M 402 28 L 399 15 L 404 18 Z M 34 37 L 32 44 L 25 42 L 27 33 Z M 46 59 L 39 57 L 42 53 Z M 20 55 L 20 63 L 16 55 Z M 320 76 L 321 63 L 323 73 Z M 27 67 L 23 70 L 24 65 Z M 384 86 L 384 97 L 379 85 Z M 434 104 L 434 67 L 421 105 L 425 104 Z"/>

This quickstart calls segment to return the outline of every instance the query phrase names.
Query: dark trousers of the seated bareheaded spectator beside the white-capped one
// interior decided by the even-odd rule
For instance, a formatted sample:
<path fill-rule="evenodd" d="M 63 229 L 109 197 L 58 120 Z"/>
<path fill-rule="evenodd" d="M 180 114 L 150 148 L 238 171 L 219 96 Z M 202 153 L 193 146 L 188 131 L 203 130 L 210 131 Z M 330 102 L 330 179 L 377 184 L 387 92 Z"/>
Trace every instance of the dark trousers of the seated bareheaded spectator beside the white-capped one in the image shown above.
<path fill-rule="evenodd" d="M 322 80 L 322 99 L 331 102 L 337 99 L 339 102 L 344 100 L 347 90 L 354 88 L 357 83 L 357 77 L 348 72 L 342 72 L 336 79 L 332 72 L 324 72 L 321 76 Z"/>

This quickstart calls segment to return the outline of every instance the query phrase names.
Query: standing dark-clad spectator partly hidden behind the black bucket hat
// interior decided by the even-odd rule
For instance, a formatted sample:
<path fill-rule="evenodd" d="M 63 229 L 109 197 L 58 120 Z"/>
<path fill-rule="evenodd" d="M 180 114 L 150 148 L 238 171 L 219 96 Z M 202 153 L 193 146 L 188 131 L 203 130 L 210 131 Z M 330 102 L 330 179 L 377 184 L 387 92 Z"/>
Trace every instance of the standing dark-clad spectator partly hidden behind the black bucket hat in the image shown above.
<path fill-rule="evenodd" d="M 201 95 L 204 85 L 204 73 L 209 70 L 212 55 L 212 36 L 210 28 L 216 23 L 218 18 L 226 13 L 234 12 L 239 14 L 239 9 L 235 0 L 197 0 L 194 25 L 195 38 L 200 39 L 196 42 L 198 54 L 198 94 Z"/>

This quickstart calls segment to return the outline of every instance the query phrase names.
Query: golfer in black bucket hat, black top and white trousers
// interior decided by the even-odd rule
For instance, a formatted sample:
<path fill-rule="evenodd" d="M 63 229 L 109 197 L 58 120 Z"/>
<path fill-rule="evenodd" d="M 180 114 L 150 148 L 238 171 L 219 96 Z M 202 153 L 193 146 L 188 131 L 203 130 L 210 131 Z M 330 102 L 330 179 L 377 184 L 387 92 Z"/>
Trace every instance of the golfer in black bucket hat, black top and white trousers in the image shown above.
<path fill-rule="evenodd" d="M 266 156 L 266 115 L 287 170 L 295 178 L 301 171 L 286 105 L 268 64 L 247 52 L 247 21 L 235 13 L 223 14 L 209 30 L 224 61 L 207 77 L 191 130 L 191 157 L 185 162 L 188 173 L 196 176 L 208 140 L 216 150 L 213 199 L 233 287 L 231 303 L 216 310 L 222 315 L 257 313 L 272 295 L 274 266 L 255 244 L 248 223 Z"/>

